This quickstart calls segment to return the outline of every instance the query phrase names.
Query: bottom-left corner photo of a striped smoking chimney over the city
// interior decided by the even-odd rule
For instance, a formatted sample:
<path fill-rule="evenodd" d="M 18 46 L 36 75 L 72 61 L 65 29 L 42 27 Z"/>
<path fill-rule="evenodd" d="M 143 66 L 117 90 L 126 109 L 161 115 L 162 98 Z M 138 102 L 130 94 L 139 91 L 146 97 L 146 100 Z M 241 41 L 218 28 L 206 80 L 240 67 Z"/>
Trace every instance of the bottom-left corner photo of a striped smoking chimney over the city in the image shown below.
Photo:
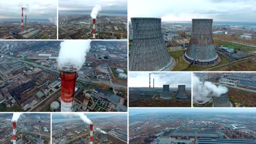
<path fill-rule="evenodd" d="M 1 113 L 0 143 L 51 143 L 50 113 Z"/>

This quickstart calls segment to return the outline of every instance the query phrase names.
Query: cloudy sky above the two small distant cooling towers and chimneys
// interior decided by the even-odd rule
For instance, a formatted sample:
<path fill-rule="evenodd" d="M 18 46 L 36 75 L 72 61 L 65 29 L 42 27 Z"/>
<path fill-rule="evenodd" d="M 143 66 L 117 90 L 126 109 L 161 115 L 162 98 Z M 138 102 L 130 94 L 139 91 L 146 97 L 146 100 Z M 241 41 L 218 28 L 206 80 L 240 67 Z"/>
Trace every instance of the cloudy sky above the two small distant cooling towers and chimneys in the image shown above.
<path fill-rule="evenodd" d="M 191 87 L 191 73 L 154 73 L 151 74 L 151 86 L 153 87 L 153 78 L 155 79 L 155 87 L 162 85 L 170 85 L 170 87 L 178 87 L 178 85 L 186 85 Z M 130 72 L 129 87 L 149 87 L 148 72 Z"/>

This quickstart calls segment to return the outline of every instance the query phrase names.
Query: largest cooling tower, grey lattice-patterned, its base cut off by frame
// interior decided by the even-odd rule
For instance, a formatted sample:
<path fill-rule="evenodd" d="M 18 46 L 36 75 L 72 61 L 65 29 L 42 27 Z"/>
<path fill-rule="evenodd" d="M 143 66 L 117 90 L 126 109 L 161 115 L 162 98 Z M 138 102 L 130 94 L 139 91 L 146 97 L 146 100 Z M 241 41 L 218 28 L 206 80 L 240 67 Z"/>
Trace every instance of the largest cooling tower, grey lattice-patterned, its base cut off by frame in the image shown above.
<path fill-rule="evenodd" d="M 131 18 L 133 28 L 129 69 L 132 71 L 170 70 L 173 67 L 161 31 L 159 18 Z"/>

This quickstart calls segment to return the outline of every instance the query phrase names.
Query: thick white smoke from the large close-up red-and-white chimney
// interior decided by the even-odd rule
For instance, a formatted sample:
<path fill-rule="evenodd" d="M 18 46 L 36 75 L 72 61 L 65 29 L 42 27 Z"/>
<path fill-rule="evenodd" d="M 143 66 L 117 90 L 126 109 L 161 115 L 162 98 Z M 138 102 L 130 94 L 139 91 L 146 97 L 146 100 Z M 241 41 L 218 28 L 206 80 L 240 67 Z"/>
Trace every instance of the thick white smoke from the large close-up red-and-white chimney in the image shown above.
<path fill-rule="evenodd" d="M 90 50 L 90 40 L 66 40 L 60 46 L 59 57 L 57 63 L 59 68 L 71 65 L 75 69 L 82 68 L 85 62 L 86 52 Z"/>

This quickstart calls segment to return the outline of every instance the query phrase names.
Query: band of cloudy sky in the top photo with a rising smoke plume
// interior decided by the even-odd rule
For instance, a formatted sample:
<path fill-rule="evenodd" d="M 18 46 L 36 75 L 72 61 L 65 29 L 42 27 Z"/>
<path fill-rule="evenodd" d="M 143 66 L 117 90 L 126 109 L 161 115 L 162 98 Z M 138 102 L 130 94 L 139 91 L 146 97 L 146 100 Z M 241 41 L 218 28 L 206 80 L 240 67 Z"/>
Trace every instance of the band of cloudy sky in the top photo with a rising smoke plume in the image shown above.
<path fill-rule="evenodd" d="M 95 4 L 102 10 L 127 10 L 127 0 L 61 0 L 59 10 L 91 10 Z"/>

